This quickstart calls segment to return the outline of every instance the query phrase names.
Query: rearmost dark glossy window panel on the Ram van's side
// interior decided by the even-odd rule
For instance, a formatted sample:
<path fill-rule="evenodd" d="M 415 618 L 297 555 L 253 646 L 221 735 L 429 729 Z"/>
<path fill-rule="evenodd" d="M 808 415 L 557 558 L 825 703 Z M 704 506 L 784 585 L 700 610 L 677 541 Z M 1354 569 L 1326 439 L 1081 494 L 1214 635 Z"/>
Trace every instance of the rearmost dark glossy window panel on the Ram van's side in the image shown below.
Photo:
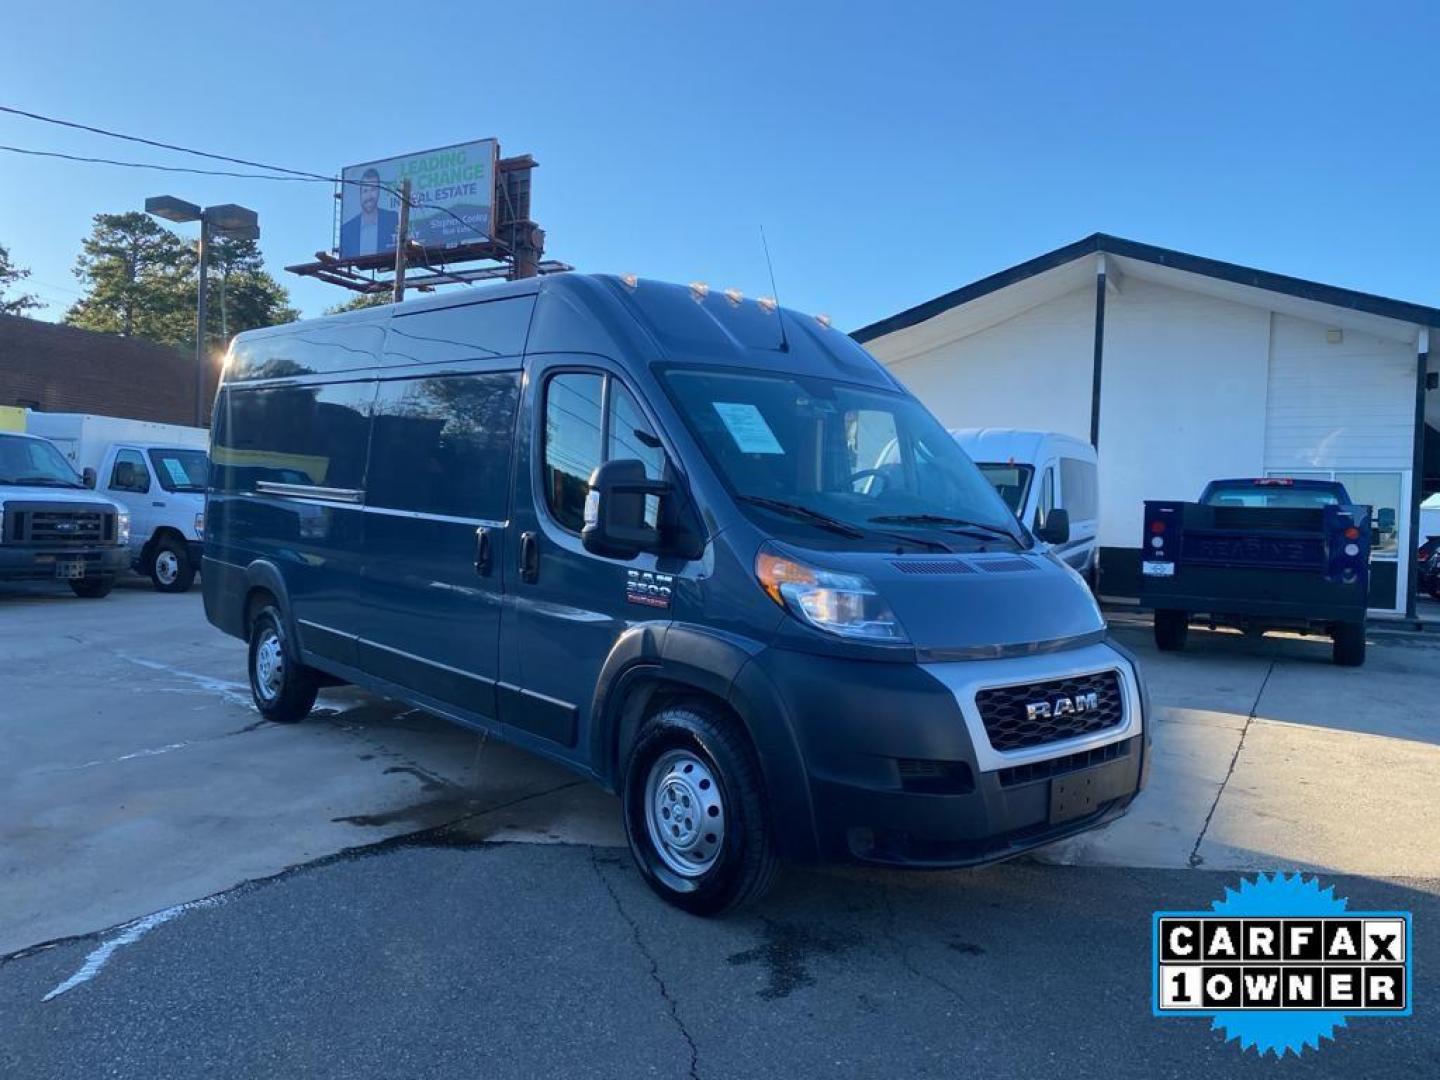
<path fill-rule="evenodd" d="M 216 403 L 210 461 L 219 491 L 256 481 L 361 490 L 374 383 L 229 387 Z"/>

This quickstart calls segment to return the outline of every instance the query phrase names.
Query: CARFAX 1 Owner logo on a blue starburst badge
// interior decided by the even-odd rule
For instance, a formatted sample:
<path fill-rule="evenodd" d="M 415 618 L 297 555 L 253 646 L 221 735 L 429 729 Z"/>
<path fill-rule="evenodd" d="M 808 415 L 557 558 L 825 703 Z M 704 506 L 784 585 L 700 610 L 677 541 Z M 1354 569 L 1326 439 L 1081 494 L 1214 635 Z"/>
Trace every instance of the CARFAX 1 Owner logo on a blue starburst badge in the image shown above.
<path fill-rule="evenodd" d="M 1351 910 L 1333 887 L 1260 874 L 1208 912 L 1156 912 L 1156 1017 L 1205 1017 L 1261 1056 L 1319 1050 L 1355 1018 L 1411 1014 L 1408 912 Z"/>

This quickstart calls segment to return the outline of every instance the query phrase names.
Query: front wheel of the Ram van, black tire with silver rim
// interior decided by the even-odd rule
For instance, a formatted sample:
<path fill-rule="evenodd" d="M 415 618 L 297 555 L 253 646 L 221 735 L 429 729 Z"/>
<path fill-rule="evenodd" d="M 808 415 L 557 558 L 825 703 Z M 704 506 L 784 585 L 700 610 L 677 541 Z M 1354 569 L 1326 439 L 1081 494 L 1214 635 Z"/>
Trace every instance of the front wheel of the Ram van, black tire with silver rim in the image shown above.
<path fill-rule="evenodd" d="M 687 769 L 687 763 L 697 765 L 698 772 Z M 664 798 L 677 792 L 701 825 L 688 829 L 688 819 L 678 816 L 688 811 L 681 809 L 680 801 L 671 802 L 677 809 L 671 828 L 681 844 L 687 837 L 680 829 L 687 828 L 694 835 L 694 848 L 685 852 L 667 844 L 662 852 L 648 815 L 654 812 L 660 824 L 660 812 L 667 809 L 661 806 Z M 691 796 L 694 804 L 688 801 Z M 631 750 L 622 801 L 631 854 L 641 877 L 667 903 L 691 914 L 720 914 L 755 903 L 775 880 L 779 858 L 760 766 L 749 739 L 720 708 L 684 701 L 651 716 Z M 706 827 L 710 818 L 703 816 L 714 808 L 720 809 L 719 837 Z M 694 864 L 688 861 L 691 857 Z M 684 864 L 687 873 L 677 871 L 675 863 Z"/>

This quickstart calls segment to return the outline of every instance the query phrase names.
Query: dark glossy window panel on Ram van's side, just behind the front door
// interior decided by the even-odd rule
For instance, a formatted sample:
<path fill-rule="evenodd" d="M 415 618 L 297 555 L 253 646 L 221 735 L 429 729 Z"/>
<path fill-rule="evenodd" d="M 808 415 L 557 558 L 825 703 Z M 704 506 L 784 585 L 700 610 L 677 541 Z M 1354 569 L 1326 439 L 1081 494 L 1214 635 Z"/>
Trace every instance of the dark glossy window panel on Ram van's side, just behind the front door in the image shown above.
<path fill-rule="evenodd" d="M 380 383 L 366 504 L 503 520 L 518 372 Z"/>

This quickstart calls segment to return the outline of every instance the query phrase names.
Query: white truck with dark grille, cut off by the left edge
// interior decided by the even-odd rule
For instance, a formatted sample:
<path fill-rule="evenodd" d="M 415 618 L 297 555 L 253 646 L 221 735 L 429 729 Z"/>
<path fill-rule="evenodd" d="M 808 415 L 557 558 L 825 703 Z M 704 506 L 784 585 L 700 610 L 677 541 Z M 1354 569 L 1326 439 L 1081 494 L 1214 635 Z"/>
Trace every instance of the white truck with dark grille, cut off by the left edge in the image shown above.
<path fill-rule="evenodd" d="M 0 431 L 0 580 L 62 580 L 98 598 L 130 563 L 130 513 L 88 491 L 35 435 Z"/>

